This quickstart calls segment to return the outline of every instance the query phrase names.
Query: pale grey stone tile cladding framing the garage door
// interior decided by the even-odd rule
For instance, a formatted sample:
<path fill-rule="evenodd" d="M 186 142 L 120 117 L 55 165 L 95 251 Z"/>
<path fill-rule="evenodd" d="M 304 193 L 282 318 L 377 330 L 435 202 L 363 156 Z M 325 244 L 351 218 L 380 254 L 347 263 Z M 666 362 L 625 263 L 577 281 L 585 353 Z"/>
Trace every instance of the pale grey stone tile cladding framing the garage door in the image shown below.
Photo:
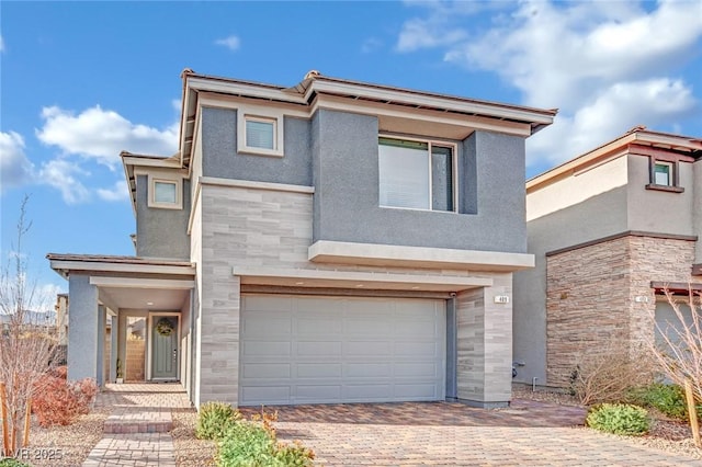
<path fill-rule="evenodd" d="M 222 400 L 237 405 L 239 377 L 240 278 L 233 267 L 370 271 L 492 277 L 494 286 L 461 294 L 457 311 L 458 397 L 479 406 L 503 406 L 511 398 L 511 273 L 416 270 L 316 264 L 307 260 L 313 239 L 313 195 L 279 190 L 201 185 L 192 230 L 197 270 L 195 405 Z M 202 232 L 202 234 L 200 234 Z M 199 243 L 195 237 L 201 235 Z"/>

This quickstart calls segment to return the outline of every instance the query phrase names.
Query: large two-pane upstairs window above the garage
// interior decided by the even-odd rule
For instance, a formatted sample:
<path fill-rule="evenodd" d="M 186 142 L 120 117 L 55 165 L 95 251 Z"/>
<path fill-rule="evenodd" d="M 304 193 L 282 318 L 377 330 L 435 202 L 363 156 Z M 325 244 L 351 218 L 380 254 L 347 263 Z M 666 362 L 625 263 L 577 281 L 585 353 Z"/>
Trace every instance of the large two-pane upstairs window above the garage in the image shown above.
<path fill-rule="evenodd" d="M 378 138 L 380 205 L 454 210 L 454 147 Z"/>

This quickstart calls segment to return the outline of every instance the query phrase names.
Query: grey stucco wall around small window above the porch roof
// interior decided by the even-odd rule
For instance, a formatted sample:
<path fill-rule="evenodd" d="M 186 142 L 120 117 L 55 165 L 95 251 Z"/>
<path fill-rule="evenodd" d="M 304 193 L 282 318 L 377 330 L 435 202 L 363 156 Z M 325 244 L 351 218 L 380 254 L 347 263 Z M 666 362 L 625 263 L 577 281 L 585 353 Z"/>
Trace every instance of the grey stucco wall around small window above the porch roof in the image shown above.
<path fill-rule="evenodd" d="M 146 258 L 188 259 L 188 217 L 190 216 L 190 181 L 181 186 L 182 209 L 148 206 L 148 176 L 137 175 L 136 183 L 136 254 Z"/>

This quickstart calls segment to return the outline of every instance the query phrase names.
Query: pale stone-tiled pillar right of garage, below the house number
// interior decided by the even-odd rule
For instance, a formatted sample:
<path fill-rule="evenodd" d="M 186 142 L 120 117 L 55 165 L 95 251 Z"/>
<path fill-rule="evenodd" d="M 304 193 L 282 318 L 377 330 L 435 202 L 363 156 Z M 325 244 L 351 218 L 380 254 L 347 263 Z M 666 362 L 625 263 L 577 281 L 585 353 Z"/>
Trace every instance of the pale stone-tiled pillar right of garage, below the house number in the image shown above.
<path fill-rule="evenodd" d="M 495 276 L 492 287 L 456 297 L 456 385 L 458 400 L 471 406 L 506 407 L 512 385 L 511 274 Z M 508 296 L 496 304 L 495 296 Z"/>

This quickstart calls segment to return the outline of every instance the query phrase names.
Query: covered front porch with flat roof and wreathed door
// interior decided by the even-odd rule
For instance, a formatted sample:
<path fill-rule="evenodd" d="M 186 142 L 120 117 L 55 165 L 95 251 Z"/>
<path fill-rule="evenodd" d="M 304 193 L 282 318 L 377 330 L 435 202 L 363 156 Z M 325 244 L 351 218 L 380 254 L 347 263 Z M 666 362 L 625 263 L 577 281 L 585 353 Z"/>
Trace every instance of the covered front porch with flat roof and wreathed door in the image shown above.
<path fill-rule="evenodd" d="M 68 377 L 192 386 L 194 267 L 136 257 L 48 254 L 69 281 Z"/>

